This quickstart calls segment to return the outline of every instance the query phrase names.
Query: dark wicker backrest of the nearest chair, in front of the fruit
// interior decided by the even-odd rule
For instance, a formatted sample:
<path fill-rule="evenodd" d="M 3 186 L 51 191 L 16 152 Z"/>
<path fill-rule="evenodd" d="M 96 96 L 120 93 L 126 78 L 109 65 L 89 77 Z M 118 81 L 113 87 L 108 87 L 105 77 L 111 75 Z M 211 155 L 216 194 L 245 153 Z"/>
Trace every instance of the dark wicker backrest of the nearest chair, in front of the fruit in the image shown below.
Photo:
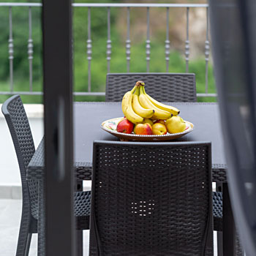
<path fill-rule="evenodd" d="M 211 255 L 211 143 L 94 142 L 90 255 Z"/>

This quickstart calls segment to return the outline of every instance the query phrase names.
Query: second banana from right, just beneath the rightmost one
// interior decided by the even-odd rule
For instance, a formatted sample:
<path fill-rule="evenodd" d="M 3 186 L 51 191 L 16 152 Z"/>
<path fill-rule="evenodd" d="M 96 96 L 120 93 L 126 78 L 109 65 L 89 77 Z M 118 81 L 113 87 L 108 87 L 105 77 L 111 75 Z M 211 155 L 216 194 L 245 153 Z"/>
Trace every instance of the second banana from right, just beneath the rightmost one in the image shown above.
<path fill-rule="evenodd" d="M 140 96 L 139 96 L 139 101 L 140 101 L 140 105 L 143 106 L 143 108 L 149 108 L 149 109 L 154 109 L 154 115 L 153 118 L 155 119 L 168 119 L 171 116 L 173 116 L 171 113 L 162 110 L 160 108 L 157 108 L 157 106 L 155 106 L 146 96 L 146 94 L 144 93 L 143 90 L 144 86 L 140 86 Z"/>

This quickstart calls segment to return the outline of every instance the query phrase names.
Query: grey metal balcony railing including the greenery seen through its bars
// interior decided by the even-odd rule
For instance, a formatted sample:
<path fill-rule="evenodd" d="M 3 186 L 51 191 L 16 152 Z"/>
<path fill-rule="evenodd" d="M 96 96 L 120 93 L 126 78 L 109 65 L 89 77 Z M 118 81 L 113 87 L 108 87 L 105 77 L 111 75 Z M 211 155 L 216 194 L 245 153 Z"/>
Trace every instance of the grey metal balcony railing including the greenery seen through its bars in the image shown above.
<path fill-rule="evenodd" d="M 42 95 L 39 3 L 0 3 L 0 99 Z M 74 3 L 74 95 L 104 100 L 107 72 L 195 72 L 198 101 L 216 101 L 208 4 Z M 138 26 L 139 24 L 139 26 Z M 7 29 L 8 28 L 8 29 Z"/>

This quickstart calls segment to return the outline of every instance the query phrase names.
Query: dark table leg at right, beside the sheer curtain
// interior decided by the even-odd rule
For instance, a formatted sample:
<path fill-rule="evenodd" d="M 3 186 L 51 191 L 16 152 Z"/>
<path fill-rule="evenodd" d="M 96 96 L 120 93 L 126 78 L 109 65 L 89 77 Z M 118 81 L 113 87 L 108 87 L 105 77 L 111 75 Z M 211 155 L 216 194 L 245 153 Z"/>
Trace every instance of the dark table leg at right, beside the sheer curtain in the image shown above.
<path fill-rule="evenodd" d="M 223 255 L 236 255 L 236 227 L 227 183 L 223 184 Z"/>

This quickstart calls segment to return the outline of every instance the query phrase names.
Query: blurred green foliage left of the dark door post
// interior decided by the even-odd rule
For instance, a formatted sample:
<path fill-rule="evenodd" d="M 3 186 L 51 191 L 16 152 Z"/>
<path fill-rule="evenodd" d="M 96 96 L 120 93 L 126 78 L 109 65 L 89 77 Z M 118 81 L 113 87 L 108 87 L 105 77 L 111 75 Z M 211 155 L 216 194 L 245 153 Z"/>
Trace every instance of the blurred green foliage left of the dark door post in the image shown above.
<path fill-rule="evenodd" d="M 9 1 L 10 2 L 10 1 Z M 15 1 L 23 2 L 23 1 Z M 37 2 L 37 1 L 31 1 Z M 42 30 L 41 8 L 32 8 L 33 39 L 33 90 L 42 91 Z M 8 53 L 9 39 L 9 7 L 0 8 L 0 91 L 10 91 L 10 63 Z M 12 39 L 13 39 L 13 82 L 14 91 L 29 91 L 29 7 L 12 7 Z M 10 95 L 0 95 L 4 102 Z M 42 102 L 42 97 L 25 96 L 24 102 Z"/>

